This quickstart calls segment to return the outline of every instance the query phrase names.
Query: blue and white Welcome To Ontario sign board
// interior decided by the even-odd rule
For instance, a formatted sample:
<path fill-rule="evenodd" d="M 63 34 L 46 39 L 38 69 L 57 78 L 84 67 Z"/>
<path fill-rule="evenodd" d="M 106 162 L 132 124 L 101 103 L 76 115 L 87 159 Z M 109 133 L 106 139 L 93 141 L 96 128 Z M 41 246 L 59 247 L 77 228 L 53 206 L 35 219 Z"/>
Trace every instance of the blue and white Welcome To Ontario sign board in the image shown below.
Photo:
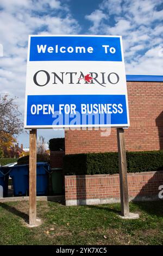
<path fill-rule="evenodd" d="M 129 126 L 121 36 L 30 35 L 24 127 Z"/>

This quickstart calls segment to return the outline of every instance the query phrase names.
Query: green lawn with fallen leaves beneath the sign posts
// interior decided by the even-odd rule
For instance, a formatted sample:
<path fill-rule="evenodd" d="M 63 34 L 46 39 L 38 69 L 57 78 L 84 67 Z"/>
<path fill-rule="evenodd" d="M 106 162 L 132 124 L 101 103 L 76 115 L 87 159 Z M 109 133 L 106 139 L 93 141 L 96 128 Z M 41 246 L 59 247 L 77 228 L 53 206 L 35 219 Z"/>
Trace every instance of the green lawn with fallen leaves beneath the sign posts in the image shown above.
<path fill-rule="evenodd" d="M 0 245 L 163 245 L 163 201 L 130 203 L 130 211 L 140 218 L 122 220 L 120 204 L 37 202 L 42 224 L 28 228 L 28 202 L 0 203 Z"/>

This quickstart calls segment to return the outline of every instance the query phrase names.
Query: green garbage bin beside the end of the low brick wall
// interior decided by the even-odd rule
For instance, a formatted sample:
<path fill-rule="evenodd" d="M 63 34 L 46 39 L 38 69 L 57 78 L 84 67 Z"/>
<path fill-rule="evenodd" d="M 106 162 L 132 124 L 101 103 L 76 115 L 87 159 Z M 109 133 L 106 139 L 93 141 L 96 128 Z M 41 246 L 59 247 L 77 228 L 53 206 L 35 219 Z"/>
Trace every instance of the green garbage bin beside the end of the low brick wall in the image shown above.
<path fill-rule="evenodd" d="M 52 193 L 62 194 L 63 192 L 63 175 L 62 168 L 52 168 Z"/>

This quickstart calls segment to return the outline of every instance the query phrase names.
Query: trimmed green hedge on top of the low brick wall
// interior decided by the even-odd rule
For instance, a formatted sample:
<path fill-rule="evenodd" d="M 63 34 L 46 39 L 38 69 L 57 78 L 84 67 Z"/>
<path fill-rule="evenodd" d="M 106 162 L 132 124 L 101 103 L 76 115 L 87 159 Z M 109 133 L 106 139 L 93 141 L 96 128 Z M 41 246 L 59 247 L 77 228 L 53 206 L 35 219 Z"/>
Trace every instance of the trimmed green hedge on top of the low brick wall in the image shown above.
<path fill-rule="evenodd" d="M 163 150 L 127 152 L 127 171 L 148 172 L 163 170 Z M 118 153 L 88 153 L 66 155 L 65 175 L 118 173 Z"/>

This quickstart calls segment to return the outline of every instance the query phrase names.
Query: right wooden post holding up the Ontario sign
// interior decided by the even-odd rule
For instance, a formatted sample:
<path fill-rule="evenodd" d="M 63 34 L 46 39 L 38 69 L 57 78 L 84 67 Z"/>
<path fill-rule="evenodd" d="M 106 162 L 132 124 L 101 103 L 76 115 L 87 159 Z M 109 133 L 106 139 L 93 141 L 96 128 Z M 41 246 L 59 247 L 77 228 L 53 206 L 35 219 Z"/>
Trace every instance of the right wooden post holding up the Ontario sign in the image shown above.
<path fill-rule="evenodd" d="M 126 147 L 123 128 L 117 128 L 118 160 L 120 170 L 121 214 L 129 216 Z"/>

